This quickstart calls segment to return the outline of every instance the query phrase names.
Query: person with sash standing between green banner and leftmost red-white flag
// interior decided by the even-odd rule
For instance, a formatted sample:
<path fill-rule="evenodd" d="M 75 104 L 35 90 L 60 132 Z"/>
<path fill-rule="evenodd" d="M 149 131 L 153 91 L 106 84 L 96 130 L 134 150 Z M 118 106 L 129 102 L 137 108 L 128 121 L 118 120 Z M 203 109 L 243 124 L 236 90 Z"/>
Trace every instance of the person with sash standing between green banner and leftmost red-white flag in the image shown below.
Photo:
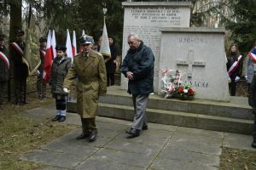
<path fill-rule="evenodd" d="M 44 57 L 46 54 L 46 37 L 40 37 L 40 66 L 38 67 L 38 80 L 37 80 L 37 89 L 38 89 L 38 97 L 39 99 L 44 99 L 46 97 L 46 82 L 43 78 L 43 72 L 44 72 Z"/>

